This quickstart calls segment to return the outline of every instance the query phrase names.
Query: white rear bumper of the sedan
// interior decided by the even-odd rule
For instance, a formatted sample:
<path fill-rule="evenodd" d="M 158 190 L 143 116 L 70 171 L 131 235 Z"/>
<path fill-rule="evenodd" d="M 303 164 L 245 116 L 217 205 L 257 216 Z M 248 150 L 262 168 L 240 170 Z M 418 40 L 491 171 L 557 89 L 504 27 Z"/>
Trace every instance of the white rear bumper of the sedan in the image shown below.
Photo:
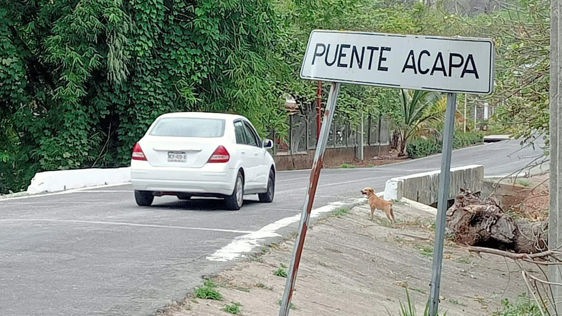
<path fill-rule="evenodd" d="M 236 170 L 226 164 L 202 168 L 154 167 L 147 161 L 131 162 L 131 182 L 135 190 L 185 192 L 192 195 L 231 195 Z"/>

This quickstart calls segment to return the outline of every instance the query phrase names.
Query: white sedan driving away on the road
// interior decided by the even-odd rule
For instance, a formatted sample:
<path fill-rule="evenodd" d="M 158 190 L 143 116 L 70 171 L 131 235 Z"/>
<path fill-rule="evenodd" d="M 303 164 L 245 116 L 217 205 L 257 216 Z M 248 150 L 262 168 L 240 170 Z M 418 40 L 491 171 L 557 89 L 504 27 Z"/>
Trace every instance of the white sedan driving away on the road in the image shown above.
<path fill-rule="evenodd" d="M 273 141 L 258 136 L 244 116 L 178 112 L 159 116 L 131 157 L 131 182 L 139 206 L 155 196 L 224 198 L 238 210 L 243 196 L 271 202 L 275 194 Z"/>

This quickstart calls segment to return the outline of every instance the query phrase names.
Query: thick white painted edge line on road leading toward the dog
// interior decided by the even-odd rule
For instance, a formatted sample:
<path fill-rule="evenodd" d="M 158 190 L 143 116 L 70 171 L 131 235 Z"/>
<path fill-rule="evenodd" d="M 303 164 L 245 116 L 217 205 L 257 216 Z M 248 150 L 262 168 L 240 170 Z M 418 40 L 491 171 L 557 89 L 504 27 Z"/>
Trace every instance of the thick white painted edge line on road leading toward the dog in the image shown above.
<path fill-rule="evenodd" d="M 366 198 L 361 197 L 354 200 L 352 203 L 359 203 L 366 201 Z M 318 217 L 322 213 L 327 213 L 336 210 L 338 207 L 346 205 L 345 202 L 332 202 L 328 205 L 318 207 L 310 213 L 310 218 Z M 277 231 L 283 227 L 291 225 L 298 222 L 301 219 L 301 214 L 285 217 L 283 219 L 277 220 L 274 223 L 265 225 L 256 232 L 247 233 L 242 236 L 234 238 L 232 242 L 228 245 L 222 247 L 221 249 L 214 252 L 214 254 L 207 256 L 208 260 L 211 261 L 228 261 L 236 259 L 245 252 L 251 252 L 255 247 L 262 246 L 262 243 L 266 238 L 279 237 L 280 235 Z"/>

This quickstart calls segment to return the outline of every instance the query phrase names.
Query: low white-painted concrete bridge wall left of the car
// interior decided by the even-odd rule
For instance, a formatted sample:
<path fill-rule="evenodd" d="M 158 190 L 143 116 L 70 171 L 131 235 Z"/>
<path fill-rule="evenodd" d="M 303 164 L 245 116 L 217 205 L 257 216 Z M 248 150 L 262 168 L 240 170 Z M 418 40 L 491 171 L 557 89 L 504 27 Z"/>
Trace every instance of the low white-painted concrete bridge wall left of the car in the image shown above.
<path fill-rule="evenodd" d="M 130 182 L 131 168 L 56 170 L 36 173 L 26 193 L 64 191 Z"/>

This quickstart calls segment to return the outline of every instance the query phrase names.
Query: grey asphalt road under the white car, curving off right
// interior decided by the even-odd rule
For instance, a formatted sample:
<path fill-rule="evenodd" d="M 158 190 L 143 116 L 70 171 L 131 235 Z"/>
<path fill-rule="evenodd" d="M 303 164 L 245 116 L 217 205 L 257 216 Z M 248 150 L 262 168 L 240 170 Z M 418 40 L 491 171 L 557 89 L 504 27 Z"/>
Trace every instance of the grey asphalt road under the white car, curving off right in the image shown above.
<path fill-rule="evenodd" d="M 455 151 L 453 166 L 483 164 L 487 175 L 522 168 L 536 154 L 504 141 Z M 381 191 L 392 177 L 439 169 L 440 156 L 369 169 L 323 170 L 315 207 Z M 156 198 L 137 207 L 130 186 L 0 200 L 0 312 L 6 315 L 148 315 L 183 297 L 207 260 L 233 238 L 297 215 L 309 171 L 280 171 L 272 204 L 248 197 L 239 211 L 216 201 Z M 255 198 L 254 198 L 255 200 Z M 271 225 L 270 225 L 271 226 Z M 270 227 L 269 226 L 269 227 Z"/>

